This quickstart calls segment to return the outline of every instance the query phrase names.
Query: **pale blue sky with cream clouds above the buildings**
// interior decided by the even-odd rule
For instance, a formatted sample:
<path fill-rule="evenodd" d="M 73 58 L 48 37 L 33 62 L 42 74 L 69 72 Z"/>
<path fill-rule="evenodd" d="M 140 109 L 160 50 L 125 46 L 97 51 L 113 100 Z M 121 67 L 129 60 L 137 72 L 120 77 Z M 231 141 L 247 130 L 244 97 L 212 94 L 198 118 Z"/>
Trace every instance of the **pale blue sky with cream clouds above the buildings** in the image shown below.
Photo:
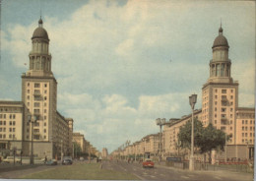
<path fill-rule="evenodd" d="M 157 118 L 190 114 L 209 78 L 222 20 L 239 106 L 254 107 L 255 2 L 3 0 L 0 99 L 21 100 L 32 32 L 47 30 L 57 110 L 98 151 L 160 132 Z"/>

